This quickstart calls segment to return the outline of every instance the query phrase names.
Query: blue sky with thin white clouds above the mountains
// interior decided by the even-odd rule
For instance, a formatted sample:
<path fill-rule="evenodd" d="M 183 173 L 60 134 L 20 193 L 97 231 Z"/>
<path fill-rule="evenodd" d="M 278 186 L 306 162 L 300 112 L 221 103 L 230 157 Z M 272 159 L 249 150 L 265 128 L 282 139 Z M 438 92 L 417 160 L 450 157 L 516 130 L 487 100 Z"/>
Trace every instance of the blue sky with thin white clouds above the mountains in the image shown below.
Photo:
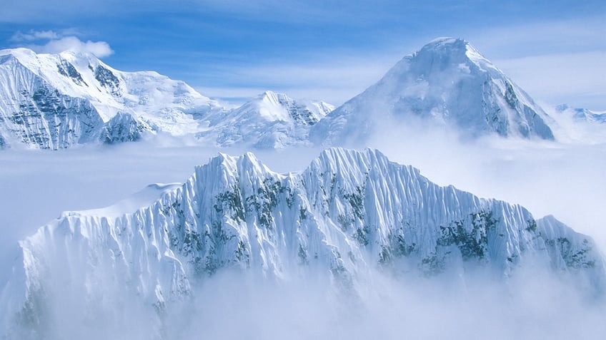
<path fill-rule="evenodd" d="M 340 104 L 437 36 L 465 38 L 539 101 L 606 110 L 606 1 L 4 0 L 0 48 L 92 51 L 238 102 Z"/>

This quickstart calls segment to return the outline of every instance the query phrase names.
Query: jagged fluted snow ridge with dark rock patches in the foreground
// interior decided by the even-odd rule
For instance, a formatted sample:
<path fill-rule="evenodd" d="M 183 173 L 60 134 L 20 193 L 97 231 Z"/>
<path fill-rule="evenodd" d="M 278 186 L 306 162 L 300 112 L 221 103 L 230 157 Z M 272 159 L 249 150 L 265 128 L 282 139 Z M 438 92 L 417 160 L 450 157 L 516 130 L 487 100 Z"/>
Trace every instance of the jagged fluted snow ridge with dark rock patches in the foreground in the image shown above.
<path fill-rule="evenodd" d="M 376 150 L 329 149 L 287 175 L 250 153 L 219 155 L 182 185 L 64 212 L 24 239 L 0 295 L 0 321 L 9 338 L 39 339 L 72 301 L 69 322 L 111 322 L 116 310 L 141 306 L 162 324 L 194 287 L 227 271 L 278 281 L 319 273 L 356 295 L 371 269 L 507 281 L 530 263 L 587 279 L 588 292 L 606 288 L 590 237 L 519 205 L 435 185 Z"/>

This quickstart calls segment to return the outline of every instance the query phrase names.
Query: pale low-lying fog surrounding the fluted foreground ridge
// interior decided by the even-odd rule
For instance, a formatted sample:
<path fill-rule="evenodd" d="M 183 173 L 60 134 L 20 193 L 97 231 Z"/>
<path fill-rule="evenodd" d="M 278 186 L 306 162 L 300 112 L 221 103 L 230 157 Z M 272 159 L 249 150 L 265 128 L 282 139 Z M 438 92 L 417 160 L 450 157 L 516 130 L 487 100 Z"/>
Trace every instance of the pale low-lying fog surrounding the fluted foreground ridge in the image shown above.
<path fill-rule="evenodd" d="M 535 217 L 555 215 L 592 236 L 606 251 L 606 143 L 458 140 L 445 131 L 402 128 L 370 145 L 394 162 L 414 165 L 439 185 L 519 203 Z M 145 142 L 57 152 L 4 150 L 0 153 L 0 285 L 9 274 L 17 240 L 61 211 L 111 205 L 152 182 L 183 182 L 195 165 L 207 163 L 217 152 Z M 239 155 L 244 150 L 224 152 Z M 319 152 L 255 154 L 272 170 L 288 172 L 304 169 Z M 600 317 L 605 311 L 569 300 L 565 288 L 546 282 L 550 281 L 545 277 L 520 274 L 515 287 L 521 293 L 511 299 L 481 284 L 473 294 L 457 297 L 439 288 L 375 282 L 383 293 L 358 309 L 327 302 L 318 287 L 244 288 L 219 276 L 203 285 L 197 294 L 199 304 L 189 316 L 191 323 L 179 332 L 186 339 L 197 339 L 197 334 L 210 339 L 603 339 Z"/>

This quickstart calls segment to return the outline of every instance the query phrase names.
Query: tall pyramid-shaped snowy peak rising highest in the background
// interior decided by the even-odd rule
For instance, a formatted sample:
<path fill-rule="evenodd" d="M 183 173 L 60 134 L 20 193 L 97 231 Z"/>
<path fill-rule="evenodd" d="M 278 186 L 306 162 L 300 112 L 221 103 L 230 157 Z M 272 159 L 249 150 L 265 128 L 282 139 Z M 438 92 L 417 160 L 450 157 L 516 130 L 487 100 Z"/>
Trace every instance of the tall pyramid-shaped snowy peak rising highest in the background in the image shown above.
<path fill-rule="evenodd" d="M 314 126 L 312 140 L 364 140 L 381 125 L 411 119 L 454 127 L 464 138 L 494 133 L 554 139 L 550 117 L 470 43 L 438 38 Z"/>

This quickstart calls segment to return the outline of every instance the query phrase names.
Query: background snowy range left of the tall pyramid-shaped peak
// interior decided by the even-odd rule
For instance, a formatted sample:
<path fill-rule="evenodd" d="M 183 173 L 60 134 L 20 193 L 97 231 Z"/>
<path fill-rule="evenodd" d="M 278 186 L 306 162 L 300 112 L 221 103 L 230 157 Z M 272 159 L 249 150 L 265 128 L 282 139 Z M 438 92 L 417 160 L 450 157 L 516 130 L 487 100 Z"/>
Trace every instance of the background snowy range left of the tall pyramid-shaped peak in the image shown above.
<path fill-rule="evenodd" d="M 228 110 L 182 81 L 123 72 L 86 53 L 0 51 L 0 148 L 121 143 L 146 133 L 196 135 L 206 145 L 307 144 L 334 107 L 267 91 Z"/>

